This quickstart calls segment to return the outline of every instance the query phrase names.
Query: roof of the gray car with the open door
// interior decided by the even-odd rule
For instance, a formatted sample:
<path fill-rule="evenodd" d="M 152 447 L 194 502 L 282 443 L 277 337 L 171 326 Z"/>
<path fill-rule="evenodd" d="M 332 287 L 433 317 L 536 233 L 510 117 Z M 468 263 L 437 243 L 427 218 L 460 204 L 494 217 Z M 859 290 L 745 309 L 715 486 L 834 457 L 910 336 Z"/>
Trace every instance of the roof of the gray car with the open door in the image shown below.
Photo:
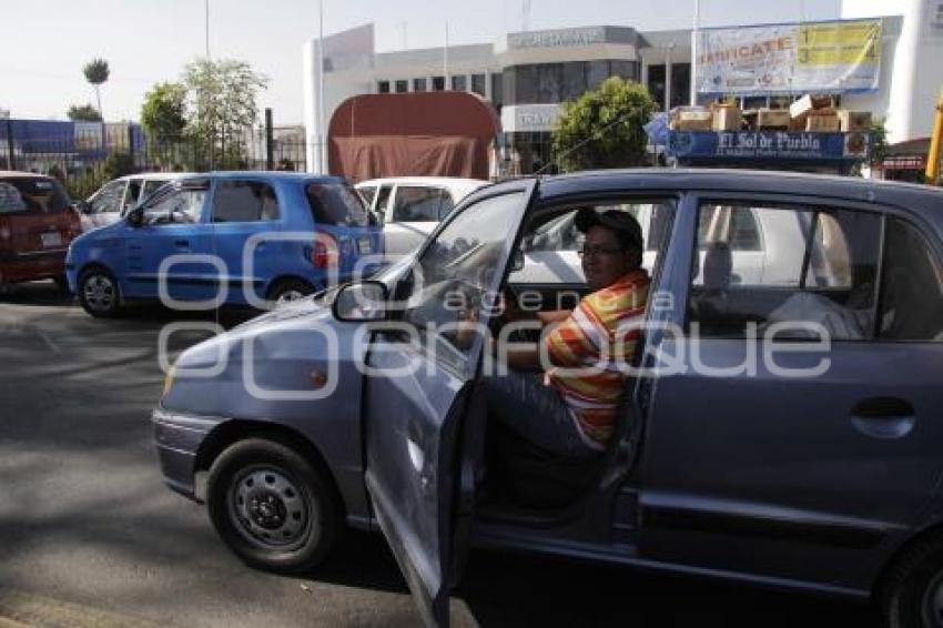
<path fill-rule="evenodd" d="M 921 216 L 943 233 L 943 190 L 930 185 L 799 172 L 648 168 L 588 171 L 540 180 L 540 200 L 607 191 L 778 193 L 895 206 Z"/>

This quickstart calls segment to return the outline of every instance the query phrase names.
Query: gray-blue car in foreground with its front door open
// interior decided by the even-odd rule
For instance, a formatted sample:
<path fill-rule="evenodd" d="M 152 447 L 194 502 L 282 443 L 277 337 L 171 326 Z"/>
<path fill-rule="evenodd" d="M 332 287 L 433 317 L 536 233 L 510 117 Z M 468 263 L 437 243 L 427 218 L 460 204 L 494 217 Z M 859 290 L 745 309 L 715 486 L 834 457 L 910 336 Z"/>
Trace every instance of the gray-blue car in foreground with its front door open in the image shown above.
<path fill-rule="evenodd" d="M 589 463 L 500 432 L 479 394 L 488 336 L 506 337 L 495 294 L 585 294 L 507 277 L 530 233 L 586 206 L 646 216 L 652 274 L 616 434 Z M 345 526 L 379 530 L 430 625 L 475 545 L 941 626 L 943 193 L 720 170 L 489 186 L 415 259 L 183 353 L 153 422 L 168 484 L 247 564 L 308 569 Z"/>

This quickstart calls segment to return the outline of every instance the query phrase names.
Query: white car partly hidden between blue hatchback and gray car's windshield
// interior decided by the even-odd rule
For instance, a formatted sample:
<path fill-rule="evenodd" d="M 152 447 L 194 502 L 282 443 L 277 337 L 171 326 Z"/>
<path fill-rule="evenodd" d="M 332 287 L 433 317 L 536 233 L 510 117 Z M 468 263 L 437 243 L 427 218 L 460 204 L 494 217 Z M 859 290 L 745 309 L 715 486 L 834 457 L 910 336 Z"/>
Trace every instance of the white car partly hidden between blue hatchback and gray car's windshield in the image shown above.
<path fill-rule="evenodd" d="M 395 261 L 416 251 L 465 196 L 488 185 L 478 179 L 394 176 L 357 183 L 383 224 L 386 256 Z"/>

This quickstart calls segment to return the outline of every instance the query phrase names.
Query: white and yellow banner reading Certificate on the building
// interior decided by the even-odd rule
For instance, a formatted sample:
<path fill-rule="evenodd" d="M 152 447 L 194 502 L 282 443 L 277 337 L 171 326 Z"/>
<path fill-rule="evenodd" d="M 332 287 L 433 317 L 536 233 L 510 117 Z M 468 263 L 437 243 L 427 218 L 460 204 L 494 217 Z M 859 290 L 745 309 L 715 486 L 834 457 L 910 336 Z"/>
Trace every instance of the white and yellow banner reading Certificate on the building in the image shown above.
<path fill-rule="evenodd" d="M 699 31 L 698 92 L 842 93 L 878 89 L 881 20 Z"/>

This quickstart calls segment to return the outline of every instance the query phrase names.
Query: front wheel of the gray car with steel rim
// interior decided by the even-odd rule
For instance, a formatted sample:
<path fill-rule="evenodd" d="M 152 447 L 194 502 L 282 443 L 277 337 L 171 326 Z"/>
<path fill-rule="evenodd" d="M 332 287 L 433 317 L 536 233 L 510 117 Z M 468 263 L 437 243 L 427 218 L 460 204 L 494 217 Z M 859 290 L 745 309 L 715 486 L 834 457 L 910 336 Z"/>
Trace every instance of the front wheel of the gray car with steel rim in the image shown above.
<path fill-rule="evenodd" d="M 206 485 L 210 519 L 252 567 L 297 574 L 317 566 L 341 530 L 329 478 L 296 450 L 261 438 L 229 447 Z"/>

